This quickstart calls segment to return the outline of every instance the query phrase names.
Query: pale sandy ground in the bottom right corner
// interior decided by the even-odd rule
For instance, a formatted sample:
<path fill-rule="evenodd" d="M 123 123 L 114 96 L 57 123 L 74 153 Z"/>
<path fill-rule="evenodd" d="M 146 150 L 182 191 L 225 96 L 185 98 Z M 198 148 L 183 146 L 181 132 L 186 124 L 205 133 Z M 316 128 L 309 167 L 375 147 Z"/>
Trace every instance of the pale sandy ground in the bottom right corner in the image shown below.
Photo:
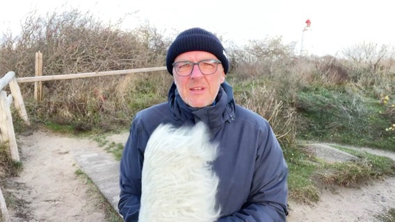
<path fill-rule="evenodd" d="M 314 207 L 289 203 L 289 222 L 304 221 L 375 221 L 375 215 L 395 207 L 395 178 L 389 178 L 360 189 L 324 191 Z"/>

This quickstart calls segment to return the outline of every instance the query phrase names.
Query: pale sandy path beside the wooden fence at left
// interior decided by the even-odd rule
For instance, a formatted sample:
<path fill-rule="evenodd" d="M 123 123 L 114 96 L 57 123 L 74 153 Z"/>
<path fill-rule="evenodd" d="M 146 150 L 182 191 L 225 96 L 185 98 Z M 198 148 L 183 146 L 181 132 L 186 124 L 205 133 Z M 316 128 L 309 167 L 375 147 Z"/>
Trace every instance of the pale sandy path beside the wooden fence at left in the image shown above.
<path fill-rule="evenodd" d="M 29 203 L 29 221 L 105 221 L 88 185 L 76 176 L 72 157 L 82 148 L 97 149 L 95 142 L 43 132 L 18 141 L 24 170 L 10 182 L 22 188 L 14 190 L 15 196 Z M 10 214 L 13 221 L 26 221 L 17 219 L 21 212 Z"/>

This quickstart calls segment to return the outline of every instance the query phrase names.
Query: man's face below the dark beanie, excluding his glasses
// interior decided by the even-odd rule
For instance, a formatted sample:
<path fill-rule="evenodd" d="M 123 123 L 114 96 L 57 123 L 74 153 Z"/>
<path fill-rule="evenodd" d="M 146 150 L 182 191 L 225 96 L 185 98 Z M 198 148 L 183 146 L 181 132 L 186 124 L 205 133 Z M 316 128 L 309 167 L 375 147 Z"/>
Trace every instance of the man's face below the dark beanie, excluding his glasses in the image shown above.
<path fill-rule="evenodd" d="M 175 62 L 199 62 L 210 59 L 218 60 L 216 56 L 205 51 L 188 51 L 177 56 Z M 218 64 L 218 69 L 211 75 L 202 74 L 198 65 L 193 67 L 189 76 L 179 76 L 174 69 L 173 67 L 173 77 L 179 95 L 186 104 L 195 108 L 211 105 L 216 99 L 220 84 L 225 81 L 225 72 L 221 64 Z"/>

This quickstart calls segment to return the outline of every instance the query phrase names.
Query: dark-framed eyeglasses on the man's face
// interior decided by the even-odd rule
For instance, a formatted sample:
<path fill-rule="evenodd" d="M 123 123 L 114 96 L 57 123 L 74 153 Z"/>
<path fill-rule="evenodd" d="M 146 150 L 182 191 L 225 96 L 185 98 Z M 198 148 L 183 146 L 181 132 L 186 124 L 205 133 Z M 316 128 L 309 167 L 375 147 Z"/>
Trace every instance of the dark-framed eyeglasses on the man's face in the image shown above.
<path fill-rule="evenodd" d="M 179 61 L 174 62 L 172 66 L 175 68 L 175 73 L 179 76 L 189 76 L 192 74 L 193 67 L 198 65 L 199 70 L 204 75 L 214 74 L 218 69 L 220 60 L 201 60 L 199 62 Z"/>

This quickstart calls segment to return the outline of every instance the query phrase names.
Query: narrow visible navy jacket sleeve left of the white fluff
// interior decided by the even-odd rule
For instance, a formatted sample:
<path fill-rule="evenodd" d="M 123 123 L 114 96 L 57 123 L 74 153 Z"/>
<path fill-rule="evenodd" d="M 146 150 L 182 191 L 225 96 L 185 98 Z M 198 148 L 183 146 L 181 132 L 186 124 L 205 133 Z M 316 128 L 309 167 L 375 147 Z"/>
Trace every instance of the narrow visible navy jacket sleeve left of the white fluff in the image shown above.
<path fill-rule="evenodd" d="M 120 200 L 118 209 L 124 221 L 138 221 L 141 196 L 141 170 L 143 153 L 141 147 L 144 139 L 138 132 L 138 117 L 131 125 L 129 138 L 124 146 L 120 161 Z"/>

